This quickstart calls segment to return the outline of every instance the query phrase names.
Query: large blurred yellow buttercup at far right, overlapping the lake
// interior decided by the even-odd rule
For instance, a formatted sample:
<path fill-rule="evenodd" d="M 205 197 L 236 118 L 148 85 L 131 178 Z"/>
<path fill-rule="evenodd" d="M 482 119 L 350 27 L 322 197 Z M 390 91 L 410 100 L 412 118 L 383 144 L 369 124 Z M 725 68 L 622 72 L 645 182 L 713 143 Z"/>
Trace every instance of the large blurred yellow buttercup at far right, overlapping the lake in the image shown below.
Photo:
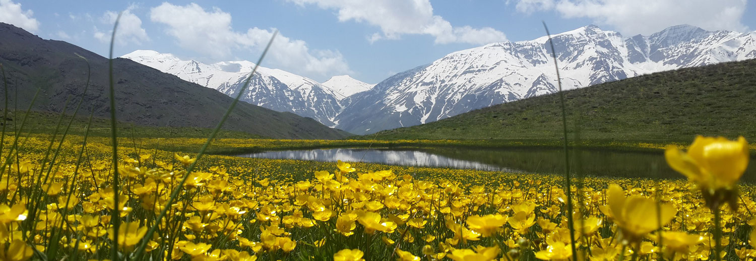
<path fill-rule="evenodd" d="M 748 167 L 748 141 L 697 136 L 685 153 L 675 146 L 665 151 L 672 169 L 703 188 L 732 188 Z"/>

